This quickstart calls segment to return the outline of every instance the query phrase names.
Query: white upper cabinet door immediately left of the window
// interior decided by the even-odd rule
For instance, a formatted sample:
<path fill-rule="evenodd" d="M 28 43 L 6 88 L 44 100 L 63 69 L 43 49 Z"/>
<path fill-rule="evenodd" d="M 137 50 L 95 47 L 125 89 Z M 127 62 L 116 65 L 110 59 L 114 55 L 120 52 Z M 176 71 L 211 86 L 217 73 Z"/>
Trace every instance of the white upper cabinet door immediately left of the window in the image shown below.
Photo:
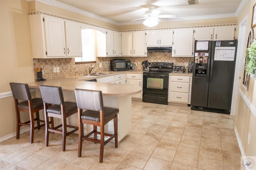
<path fill-rule="evenodd" d="M 68 57 L 82 56 L 82 36 L 80 24 L 65 21 L 66 27 L 66 55 Z"/>

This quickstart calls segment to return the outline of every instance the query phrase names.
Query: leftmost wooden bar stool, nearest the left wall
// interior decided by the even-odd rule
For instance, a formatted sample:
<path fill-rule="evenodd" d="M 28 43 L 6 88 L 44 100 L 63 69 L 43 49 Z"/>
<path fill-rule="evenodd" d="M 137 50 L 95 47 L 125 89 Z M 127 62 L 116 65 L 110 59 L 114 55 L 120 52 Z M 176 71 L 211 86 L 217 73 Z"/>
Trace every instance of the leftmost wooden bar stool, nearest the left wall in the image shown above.
<path fill-rule="evenodd" d="M 39 111 L 44 109 L 43 101 L 41 98 L 32 99 L 28 84 L 24 83 L 10 83 L 12 95 L 14 97 L 15 111 L 16 111 L 16 139 L 20 138 L 20 127 L 30 127 L 30 143 L 34 142 L 34 129 L 40 129 L 45 125 L 43 120 L 39 118 Z M 18 101 L 22 100 L 22 101 Z M 20 112 L 29 113 L 29 121 L 20 121 Z M 34 113 L 36 118 L 34 119 Z M 35 127 L 36 121 L 37 126 Z M 40 125 L 40 122 L 43 124 Z"/>

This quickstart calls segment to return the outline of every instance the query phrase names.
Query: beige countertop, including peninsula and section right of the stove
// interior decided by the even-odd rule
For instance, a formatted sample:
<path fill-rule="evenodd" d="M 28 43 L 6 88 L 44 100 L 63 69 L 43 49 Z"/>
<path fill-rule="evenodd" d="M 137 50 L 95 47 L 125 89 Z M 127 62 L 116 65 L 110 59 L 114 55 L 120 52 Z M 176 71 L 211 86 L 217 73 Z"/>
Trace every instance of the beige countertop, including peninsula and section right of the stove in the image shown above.
<path fill-rule="evenodd" d="M 117 97 L 135 95 L 141 92 L 142 89 L 141 87 L 138 87 L 138 86 L 131 86 L 126 84 L 90 82 L 87 80 L 114 76 L 122 73 L 143 74 L 143 71 L 132 70 L 132 71 L 104 71 L 104 72 L 110 73 L 110 74 L 100 75 L 100 76 L 77 75 L 73 77 L 66 77 L 66 78 L 60 78 L 60 79 L 31 82 L 31 83 L 28 83 L 28 86 L 30 88 L 36 88 L 36 89 L 39 89 L 40 85 L 60 86 L 62 87 L 62 90 L 66 90 L 66 91 L 74 91 L 74 89 L 101 90 L 102 95 L 104 96 L 117 96 Z M 187 72 L 169 73 L 169 75 L 192 77 L 192 73 L 187 73 Z"/>

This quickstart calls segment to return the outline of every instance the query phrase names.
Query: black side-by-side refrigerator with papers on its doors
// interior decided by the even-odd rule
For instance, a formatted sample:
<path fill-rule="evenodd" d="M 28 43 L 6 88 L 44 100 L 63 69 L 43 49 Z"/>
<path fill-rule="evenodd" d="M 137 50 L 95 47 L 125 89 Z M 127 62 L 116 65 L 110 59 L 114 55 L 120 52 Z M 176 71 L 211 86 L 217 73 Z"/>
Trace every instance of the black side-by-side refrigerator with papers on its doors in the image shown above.
<path fill-rule="evenodd" d="M 195 41 L 191 110 L 230 114 L 237 40 Z"/>

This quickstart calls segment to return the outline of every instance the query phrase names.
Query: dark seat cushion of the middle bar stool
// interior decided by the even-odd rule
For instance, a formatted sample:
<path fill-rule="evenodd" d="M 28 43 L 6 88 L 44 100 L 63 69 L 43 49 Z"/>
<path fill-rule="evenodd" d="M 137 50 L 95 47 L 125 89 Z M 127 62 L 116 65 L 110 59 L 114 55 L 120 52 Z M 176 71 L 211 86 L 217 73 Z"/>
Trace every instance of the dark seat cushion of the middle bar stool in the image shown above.
<path fill-rule="evenodd" d="M 74 102 L 64 101 L 64 105 L 65 105 L 66 114 L 74 110 L 77 111 L 77 105 Z M 61 115 L 60 105 L 52 105 L 48 107 L 46 111 L 49 113 L 55 113 L 55 114 Z"/>

